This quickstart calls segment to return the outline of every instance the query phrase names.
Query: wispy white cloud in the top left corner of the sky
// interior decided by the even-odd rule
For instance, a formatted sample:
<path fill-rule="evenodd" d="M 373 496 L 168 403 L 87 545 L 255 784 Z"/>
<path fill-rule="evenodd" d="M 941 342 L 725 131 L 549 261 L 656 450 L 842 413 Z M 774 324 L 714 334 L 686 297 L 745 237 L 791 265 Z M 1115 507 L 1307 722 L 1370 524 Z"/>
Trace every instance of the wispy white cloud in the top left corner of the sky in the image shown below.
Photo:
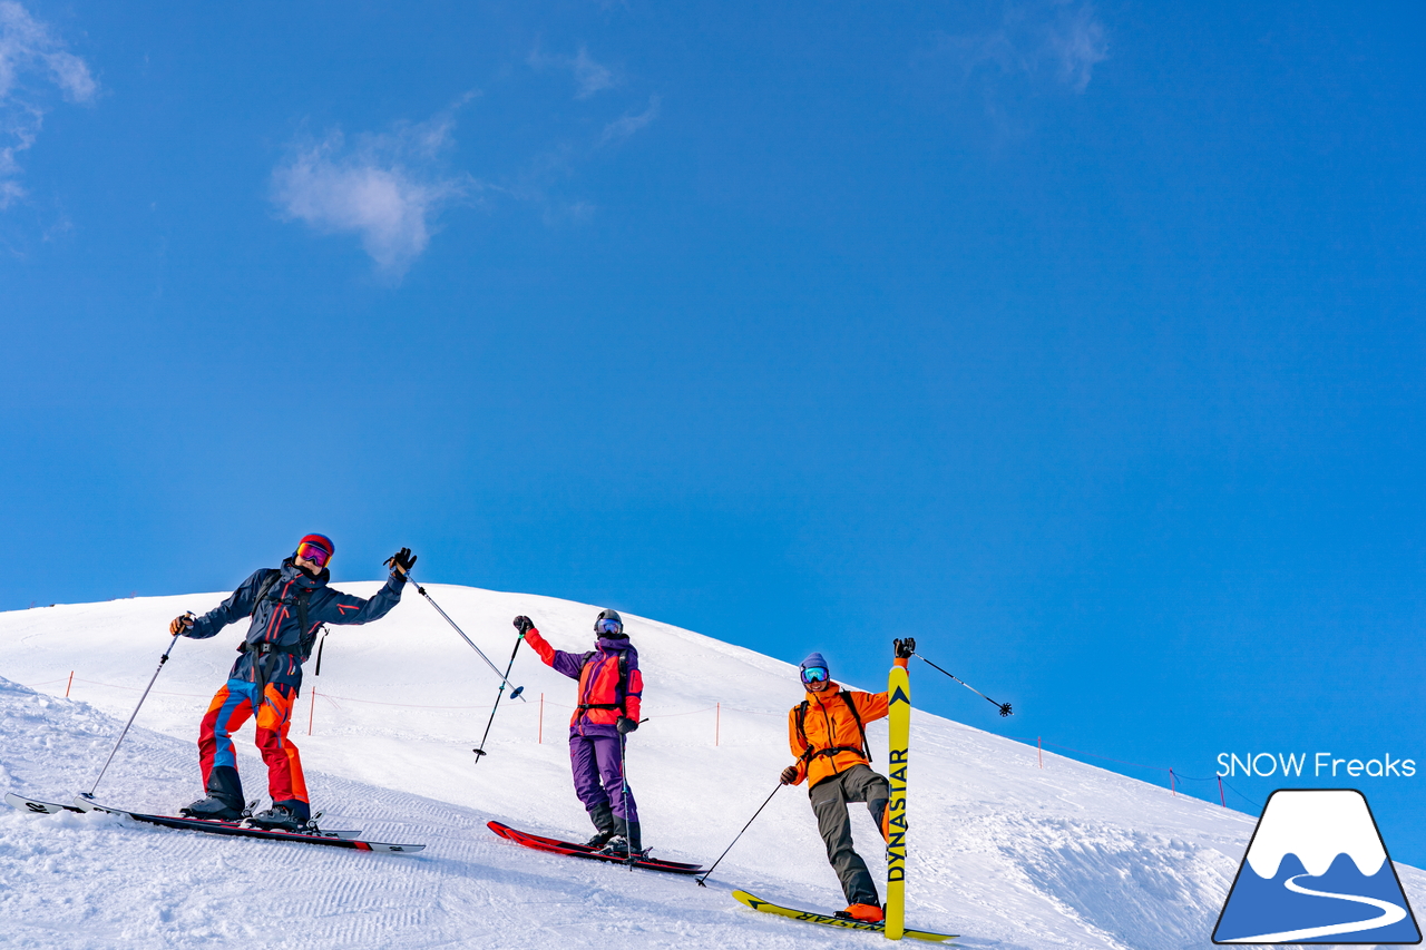
<path fill-rule="evenodd" d="M 98 96 L 84 60 L 21 4 L 0 0 L 0 210 L 26 194 L 19 154 L 39 137 L 51 88 L 71 103 Z"/>

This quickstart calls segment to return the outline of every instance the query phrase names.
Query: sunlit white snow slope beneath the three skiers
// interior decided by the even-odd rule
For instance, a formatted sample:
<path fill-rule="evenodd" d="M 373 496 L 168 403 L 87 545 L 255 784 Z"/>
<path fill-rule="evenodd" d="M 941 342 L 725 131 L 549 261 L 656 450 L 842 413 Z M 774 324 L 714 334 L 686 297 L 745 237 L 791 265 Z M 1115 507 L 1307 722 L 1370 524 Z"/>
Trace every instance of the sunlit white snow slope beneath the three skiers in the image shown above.
<path fill-rule="evenodd" d="M 378 588 L 337 586 L 361 596 Z M 463 586 L 428 591 L 502 668 L 518 613 L 560 649 L 592 645 L 597 606 Z M 0 613 L 0 790 L 67 802 L 88 789 L 157 668 L 168 620 L 222 596 Z M 796 669 L 655 620 L 625 620 L 652 717 L 629 743 L 645 843 L 657 856 L 707 864 L 790 762 L 786 715 L 801 699 Z M 174 813 L 200 796 L 198 720 L 242 632 L 178 640 L 98 800 Z M 874 934 L 757 914 L 729 896 L 743 887 L 793 906 L 843 906 L 806 789 L 779 792 L 706 889 L 540 854 L 488 832 L 496 819 L 565 839 L 590 833 L 565 740 L 575 683 L 522 648 L 512 679 L 529 702 L 502 703 L 489 756 L 476 765 L 471 749 L 496 679 L 411 588 L 384 620 L 337 628 L 322 676 L 314 679 L 312 668 L 292 736 L 314 807 L 327 810 L 324 824 L 425 843 L 425 852 L 368 854 L 0 807 L 0 946 L 884 946 Z M 858 689 L 886 688 L 881 669 L 834 673 Z M 886 723 L 870 733 L 884 770 Z M 265 769 L 251 736 L 248 725 L 238 749 L 255 797 L 265 792 Z M 910 926 L 997 950 L 1212 946 L 1252 816 L 1058 756 L 1047 755 L 1040 769 L 1034 749 L 921 712 L 911 743 Z M 881 876 L 870 817 L 856 807 L 853 820 L 858 850 Z M 1412 903 L 1426 906 L 1426 874 L 1397 870 Z"/>

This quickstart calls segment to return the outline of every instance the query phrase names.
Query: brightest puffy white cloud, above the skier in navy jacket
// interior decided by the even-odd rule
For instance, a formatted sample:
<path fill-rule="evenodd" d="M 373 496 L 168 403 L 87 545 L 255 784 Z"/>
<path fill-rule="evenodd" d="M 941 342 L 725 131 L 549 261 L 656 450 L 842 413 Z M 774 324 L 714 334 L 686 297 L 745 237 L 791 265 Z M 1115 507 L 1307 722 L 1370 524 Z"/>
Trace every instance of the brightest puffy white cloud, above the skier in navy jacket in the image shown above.
<path fill-rule="evenodd" d="M 341 131 L 294 145 L 272 171 L 272 200 L 288 220 L 324 234 L 356 234 L 376 268 L 399 278 L 431 242 L 435 217 L 479 190 L 469 175 L 442 175 L 453 113 L 347 145 Z"/>

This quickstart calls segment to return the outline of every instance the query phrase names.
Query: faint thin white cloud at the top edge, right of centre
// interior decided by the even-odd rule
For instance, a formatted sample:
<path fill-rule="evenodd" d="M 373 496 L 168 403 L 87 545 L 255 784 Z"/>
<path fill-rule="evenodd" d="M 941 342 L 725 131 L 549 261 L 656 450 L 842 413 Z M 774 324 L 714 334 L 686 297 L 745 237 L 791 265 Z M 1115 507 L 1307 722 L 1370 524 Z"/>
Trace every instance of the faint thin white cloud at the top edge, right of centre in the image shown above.
<path fill-rule="evenodd" d="M 940 48 L 958 60 L 967 76 L 987 67 L 1030 78 L 1052 74 L 1075 93 L 1088 88 L 1095 64 L 1109 57 L 1094 6 L 1074 0 L 1007 3 L 998 26 L 944 36 Z"/>

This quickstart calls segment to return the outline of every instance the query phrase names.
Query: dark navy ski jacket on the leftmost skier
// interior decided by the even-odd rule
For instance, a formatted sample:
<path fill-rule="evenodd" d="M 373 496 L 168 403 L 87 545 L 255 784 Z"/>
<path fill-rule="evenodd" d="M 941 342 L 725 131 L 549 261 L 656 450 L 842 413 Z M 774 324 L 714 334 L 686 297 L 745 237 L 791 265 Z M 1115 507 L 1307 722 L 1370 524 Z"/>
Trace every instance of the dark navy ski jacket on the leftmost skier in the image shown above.
<path fill-rule="evenodd" d="M 254 601 L 270 571 L 270 568 L 255 571 L 232 592 L 232 596 L 200 616 L 193 626 L 184 630 L 184 636 L 205 640 L 210 636 L 217 636 L 218 630 L 227 625 L 252 615 L 244 646 L 238 648 L 244 652 L 232 665 L 228 679 L 257 682 L 252 675 L 252 659 L 258 653 L 251 648 L 265 643 L 270 645 L 268 649 L 278 653 L 275 662 L 271 662 L 271 672 L 267 673 L 265 680 L 292 688 L 299 686 L 302 682 L 301 645 L 304 635 L 311 636 L 322 623 L 352 625 L 379 620 L 401 602 L 401 589 L 406 585 L 405 575 L 392 572 L 391 578 L 386 579 L 386 586 L 378 591 L 376 596 L 365 601 L 328 588 L 327 581 L 331 578 L 328 571 L 324 569 L 312 578 L 288 558 L 282 562 L 277 581 L 262 595 L 262 603 L 257 603 L 254 611 Z M 297 619 L 297 595 L 304 589 L 311 591 L 311 593 L 307 601 L 307 629 L 301 630 Z"/>

